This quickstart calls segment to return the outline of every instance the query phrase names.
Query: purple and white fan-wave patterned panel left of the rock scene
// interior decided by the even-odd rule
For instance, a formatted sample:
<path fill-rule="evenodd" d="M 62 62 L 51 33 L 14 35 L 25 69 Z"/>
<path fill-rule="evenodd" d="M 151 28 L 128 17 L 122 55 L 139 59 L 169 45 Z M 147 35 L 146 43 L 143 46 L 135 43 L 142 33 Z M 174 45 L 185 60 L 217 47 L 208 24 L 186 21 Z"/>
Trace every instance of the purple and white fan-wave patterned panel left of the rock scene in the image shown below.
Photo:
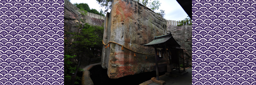
<path fill-rule="evenodd" d="M 0 85 L 63 85 L 63 0 L 0 0 Z"/>

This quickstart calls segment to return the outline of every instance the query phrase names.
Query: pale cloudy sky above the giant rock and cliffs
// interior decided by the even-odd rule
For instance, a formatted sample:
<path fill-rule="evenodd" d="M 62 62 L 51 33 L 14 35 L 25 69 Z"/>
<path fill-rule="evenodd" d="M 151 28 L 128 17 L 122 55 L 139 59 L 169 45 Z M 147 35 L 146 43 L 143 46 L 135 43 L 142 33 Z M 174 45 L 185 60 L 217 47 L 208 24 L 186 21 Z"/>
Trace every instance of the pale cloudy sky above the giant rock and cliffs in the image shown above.
<path fill-rule="evenodd" d="M 159 7 L 159 10 L 156 12 L 160 12 L 161 10 L 164 10 L 165 16 L 164 19 L 167 20 L 183 20 L 187 18 L 188 14 L 182 9 L 180 4 L 176 0 L 159 0 L 161 3 L 161 6 Z M 100 9 L 103 11 L 105 10 L 105 7 L 100 7 L 100 4 L 96 0 L 70 0 L 72 4 L 74 3 L 87 3 L 90 7 L 90 9 L 96 9 L 100 12 Z M 110 12 L 110 10 L 109 10 Z"/>

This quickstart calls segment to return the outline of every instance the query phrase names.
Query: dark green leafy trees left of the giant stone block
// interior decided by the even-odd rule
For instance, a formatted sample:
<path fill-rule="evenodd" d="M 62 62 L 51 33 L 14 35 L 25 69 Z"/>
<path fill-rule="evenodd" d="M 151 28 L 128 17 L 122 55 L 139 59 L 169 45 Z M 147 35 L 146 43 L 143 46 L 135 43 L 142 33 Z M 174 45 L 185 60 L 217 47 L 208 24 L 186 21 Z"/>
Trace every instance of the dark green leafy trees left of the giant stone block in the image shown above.
<path fill-rule="evenodd" d="M 85 20 L 81 19 L 82 24 L 79 24 L 80 32 L 66 32 L 67 35 L 73 35 L 71 38 L 74 40 L 73 42 L 64 40 L 65 46 L 72 46 L 71 49 L 67 49 L 64 51 L 64 82 L 65 85 L 70 85 L 71 81 L 71 73 L 75 73 L 76 71 L 76 61 L 74 59 L 82 59 L 81 54 L 85 54 L 88 57 L 93 57 L 94 50 L 92 49 L 102 49 L 102 39 L 103 39 L 103 25 L 102 26 L 92 26 L 88 23 L 85 23 Z M 78 23 L 78 22 L 77 22 Z M 84 24 L 85 23 L 85 24 Z M 73 56 L 71 56 L 73 55 Z M 76 56 L 78 55 L 78 56 Z M 83 60 L 82 60 L 83 61 Z M 82 69 L 79 68 L 79 71 Z M 81 80 L 81 77 L 76 76 L 77 84 Z"/>

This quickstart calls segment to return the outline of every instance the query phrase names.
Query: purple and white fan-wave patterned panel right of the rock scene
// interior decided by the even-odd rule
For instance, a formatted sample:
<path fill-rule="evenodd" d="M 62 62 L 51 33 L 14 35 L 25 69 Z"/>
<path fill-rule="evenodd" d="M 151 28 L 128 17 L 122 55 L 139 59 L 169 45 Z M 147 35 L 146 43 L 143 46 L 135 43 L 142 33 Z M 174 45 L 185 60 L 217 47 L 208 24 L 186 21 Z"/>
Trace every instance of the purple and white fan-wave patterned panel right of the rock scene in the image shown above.
<path fill-rule="evenodd" d="M 256 2 L 192 1 L 192 83 L 256 84 Z"/>

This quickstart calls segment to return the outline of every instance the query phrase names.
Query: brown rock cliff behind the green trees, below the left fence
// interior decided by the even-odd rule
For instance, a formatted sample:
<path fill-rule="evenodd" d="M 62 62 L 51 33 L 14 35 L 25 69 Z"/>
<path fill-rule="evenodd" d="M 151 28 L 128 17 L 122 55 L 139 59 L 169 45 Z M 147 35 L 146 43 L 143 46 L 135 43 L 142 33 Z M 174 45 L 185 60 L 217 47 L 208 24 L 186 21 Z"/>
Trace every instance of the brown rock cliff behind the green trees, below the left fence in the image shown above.
<path fill-rule="evenodd" d="M 89 23 L 91 25 L 100 26 L 101 24 L 103 24 L 104 20 L 85 16 L 80 12 L 76 11 L 74 8 L 71 8 L 70 6 L 64 4 L 64 31 L 65 31 L 64 39 L 69 41 L 67 42 L 68 44 L 65 44 L 65 47 L 64 47 L 65 52 L 69 49 L 72 49 L 71 42 L 74 41 L 71 39 L 72 35 L 67 35 L 66 33 L 79 32 L 81 29 L 79 29 L 79 27 L 77 26 L 80 24 L 84 24 L 83 22 Z M 81 68 L 84 68 L 85 66 L 89 65 L 90 63 L 89 56 L 85 54 L 81 54 L 81 55 L 78 55 L 78 57 L 81 58 L 81 61 L 83 61 L 80 63 Z"/>

